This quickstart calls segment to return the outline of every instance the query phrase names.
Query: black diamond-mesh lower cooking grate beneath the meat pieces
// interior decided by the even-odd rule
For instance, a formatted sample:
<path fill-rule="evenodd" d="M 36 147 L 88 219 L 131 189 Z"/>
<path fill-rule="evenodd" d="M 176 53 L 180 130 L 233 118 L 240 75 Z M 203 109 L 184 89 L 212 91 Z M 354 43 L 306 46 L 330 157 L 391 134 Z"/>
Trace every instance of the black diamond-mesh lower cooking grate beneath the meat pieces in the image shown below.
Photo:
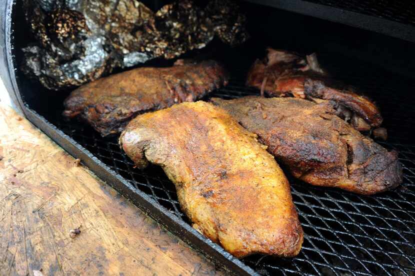
<path fill-rule="evenodd" d="M 227 67 L 234 68 L 230 70 L 232 79 L 211 96 L 257 95 L 256 89 L 243 83 L 258 52 L 253 48 L 232 52 L 222 53 Z M 399 151 L 403 183 L 394 191 L 369 197 L 312 187 L 287 173 L 305 233 L 300 254 L 292 259 L 255 255 L 242 261 L 266 276 L 415 276 L 415 144 L 408 135 L 415 121 L 412 81 L 347 57 L 326 53 L 319 59 L 334 77 L 361 87 L 377 100 L 389 132 L 388 141 L 381 144 Z M 405 95 L 403 101 L 399 95 Z M 174 185 L 161 168 L 150 165 L 144 170 L 134 169 L 119 148 L 117 137 L 102 138 L 87 125 L 64 121 L 60 112 L 48 109 L 42 115 L 133 186 L 188 222 L 180 211 Z"/>

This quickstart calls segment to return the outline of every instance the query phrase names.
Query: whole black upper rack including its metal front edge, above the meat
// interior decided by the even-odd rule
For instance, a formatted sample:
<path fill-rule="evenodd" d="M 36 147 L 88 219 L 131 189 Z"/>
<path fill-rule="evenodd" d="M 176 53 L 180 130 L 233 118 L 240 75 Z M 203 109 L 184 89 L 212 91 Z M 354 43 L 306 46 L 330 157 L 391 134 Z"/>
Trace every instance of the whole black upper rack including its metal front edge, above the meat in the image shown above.
<path fill-rule="evenodd" d="M 415 2 L 405 0 L 246 0 L 415 42 Z"/>

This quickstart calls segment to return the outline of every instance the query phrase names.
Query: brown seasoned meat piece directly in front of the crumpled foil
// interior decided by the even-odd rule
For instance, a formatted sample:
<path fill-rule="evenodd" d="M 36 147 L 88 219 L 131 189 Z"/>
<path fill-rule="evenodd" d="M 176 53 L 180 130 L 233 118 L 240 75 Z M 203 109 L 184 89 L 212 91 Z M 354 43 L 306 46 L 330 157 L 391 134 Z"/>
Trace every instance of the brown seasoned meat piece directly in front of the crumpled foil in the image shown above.
<path fill-rule="evenodd" d="M 80 116 L 102 136 L 117 133 L 137 114 L 197 100 L 227 84 L 216 61 L 177 60 L 172 67 L 142 67 L 88 83 L 64 101 L 63 115 Z"/>

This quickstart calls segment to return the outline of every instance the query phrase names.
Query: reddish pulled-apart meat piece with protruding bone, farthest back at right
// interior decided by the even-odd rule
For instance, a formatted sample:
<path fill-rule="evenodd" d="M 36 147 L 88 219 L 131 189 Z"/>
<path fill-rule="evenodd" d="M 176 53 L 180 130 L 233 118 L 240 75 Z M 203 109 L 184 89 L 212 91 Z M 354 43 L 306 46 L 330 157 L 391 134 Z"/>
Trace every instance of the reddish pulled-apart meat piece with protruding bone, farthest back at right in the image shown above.
<path fill-rule="evenodd" d="M 294 96 L 302 99 L 330 100 L 337 115 L 359 131 L 382 123 L 376 105 L 353 88 L 332 80 L 320 67 L 315 54 L 305 58 L 282 50 L 267 49 L 264 60 L 257 59 L 250 68 L 246 84 L 257 87 L 261 95 Z"/>

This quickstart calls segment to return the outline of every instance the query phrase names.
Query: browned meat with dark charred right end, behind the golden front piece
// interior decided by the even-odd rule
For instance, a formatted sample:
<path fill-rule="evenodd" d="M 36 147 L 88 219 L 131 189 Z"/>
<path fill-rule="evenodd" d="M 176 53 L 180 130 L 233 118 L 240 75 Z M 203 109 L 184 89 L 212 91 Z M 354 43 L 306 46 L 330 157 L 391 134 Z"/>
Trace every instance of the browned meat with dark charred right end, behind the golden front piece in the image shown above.
<path fill-rule="evenodd" d="M 353 129 L 327 101 L 252 96 L 212 102 L 257 134 L 268 152 L 304 182 L 365 195 L 402 182 L 397 152 Z"/>

